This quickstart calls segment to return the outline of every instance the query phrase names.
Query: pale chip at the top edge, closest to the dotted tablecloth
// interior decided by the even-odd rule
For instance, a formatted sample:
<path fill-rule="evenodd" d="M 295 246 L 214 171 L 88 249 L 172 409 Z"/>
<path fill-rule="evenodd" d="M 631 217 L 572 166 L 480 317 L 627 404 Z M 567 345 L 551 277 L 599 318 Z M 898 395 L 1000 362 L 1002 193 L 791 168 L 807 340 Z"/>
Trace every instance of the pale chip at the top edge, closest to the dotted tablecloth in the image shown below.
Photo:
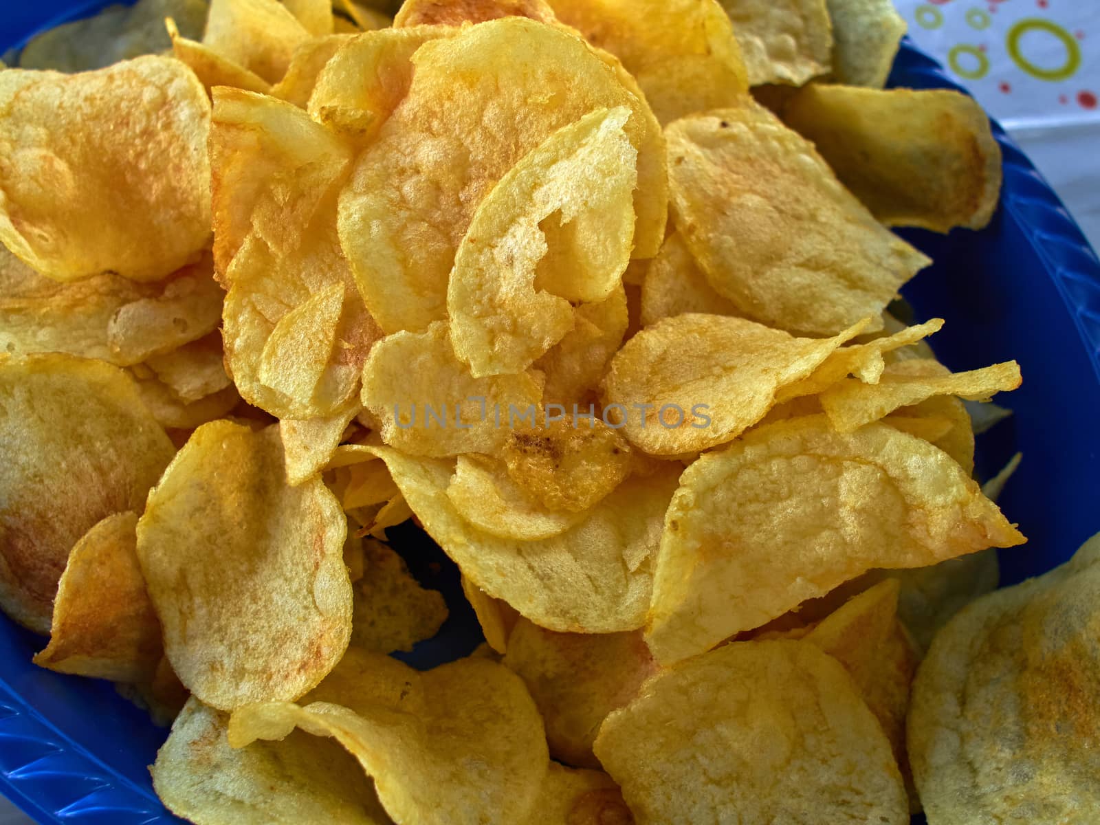
<path fill-rule="evenodd" d="M 833 21 L 834 79 L 881 89 L 908 28 L 893 0 L 826 2 Z"/>

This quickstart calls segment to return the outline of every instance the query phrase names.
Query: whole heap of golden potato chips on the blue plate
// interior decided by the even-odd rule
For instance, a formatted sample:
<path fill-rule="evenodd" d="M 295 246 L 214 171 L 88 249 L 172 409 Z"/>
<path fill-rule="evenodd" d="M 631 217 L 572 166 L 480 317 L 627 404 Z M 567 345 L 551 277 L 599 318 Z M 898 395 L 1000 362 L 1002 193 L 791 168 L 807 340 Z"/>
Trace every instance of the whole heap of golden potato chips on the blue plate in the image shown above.
<path fill-rule="evenodd" d="M 1094 818 L 1097 546 L 979 598 L 1025 539 L 964 402 L 1020 369 L 888 311 L 931 263 L 890 228 L 1001 183 L 969 98 L 883 90 L 903 31 L 141 0 L 32 41 L 0 607 L 35 661 L 170 724 L 199 825 Z M 426 671 L 388 656 L 448 619 L 410 519 L 487 642 Z"/>

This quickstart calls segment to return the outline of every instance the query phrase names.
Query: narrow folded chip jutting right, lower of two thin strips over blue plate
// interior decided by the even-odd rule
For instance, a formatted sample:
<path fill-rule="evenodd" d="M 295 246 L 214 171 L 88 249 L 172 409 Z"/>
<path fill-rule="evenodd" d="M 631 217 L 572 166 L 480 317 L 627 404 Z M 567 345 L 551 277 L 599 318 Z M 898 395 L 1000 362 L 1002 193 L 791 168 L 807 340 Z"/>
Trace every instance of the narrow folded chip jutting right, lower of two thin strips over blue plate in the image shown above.
<path fill-rule="evenodd" d="M 886 369 L 878 384 L 845 378 L 822 393 L 822 407 L 839 432 L 853 432 L 900 407 L 920 404 L 936 395 L 988 400 L 1021 384 L 1020 364 L 1008 361 L 965 373 L 930 374 L 938 363 L 902 361 Z M 946 371 L 944 371 L 946 372 Z"/>

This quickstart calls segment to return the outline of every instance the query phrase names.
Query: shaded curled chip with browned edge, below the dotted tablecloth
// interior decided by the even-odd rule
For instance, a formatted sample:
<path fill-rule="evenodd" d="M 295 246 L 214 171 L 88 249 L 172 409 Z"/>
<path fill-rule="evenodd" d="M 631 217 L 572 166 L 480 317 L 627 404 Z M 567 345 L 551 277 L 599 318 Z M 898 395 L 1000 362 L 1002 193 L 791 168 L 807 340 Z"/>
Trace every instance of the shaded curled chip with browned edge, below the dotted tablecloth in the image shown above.
<path fill-rule="evenodd" d="M 993 216 L 1001 148 L 981 107 L 961 92 L 813 84 L 783 120 L 888 227 L 981 229 Z"/>

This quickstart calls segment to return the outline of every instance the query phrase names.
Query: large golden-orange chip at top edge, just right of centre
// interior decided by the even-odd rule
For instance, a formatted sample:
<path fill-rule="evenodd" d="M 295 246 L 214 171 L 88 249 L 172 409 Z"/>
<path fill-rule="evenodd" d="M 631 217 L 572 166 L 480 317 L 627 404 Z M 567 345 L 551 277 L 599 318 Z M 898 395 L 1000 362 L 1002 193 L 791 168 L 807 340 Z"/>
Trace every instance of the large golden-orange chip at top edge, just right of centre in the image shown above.
<path fill-rule="evenodd" d="M 748 91 L 716 0 L 551 0 L 558 19 L 623 62 L 661 123 L 732 106 Z"/>

